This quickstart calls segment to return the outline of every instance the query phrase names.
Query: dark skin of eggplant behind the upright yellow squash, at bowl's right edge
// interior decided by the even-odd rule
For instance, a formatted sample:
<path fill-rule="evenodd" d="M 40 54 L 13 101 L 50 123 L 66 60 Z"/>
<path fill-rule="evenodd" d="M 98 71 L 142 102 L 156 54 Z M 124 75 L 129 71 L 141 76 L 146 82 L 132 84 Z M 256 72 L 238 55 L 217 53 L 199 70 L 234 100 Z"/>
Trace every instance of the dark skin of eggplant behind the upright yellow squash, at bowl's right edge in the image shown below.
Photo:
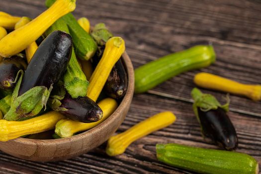
<path fill-rule="evenodd" d="M 102 57 L 104 47 L 100 47 L 99 50 L 100 51 L 96 53 L 94 58 L 92 58 L 92 64 L 94 68 L 98 65 L 98 62 Z M 113 66 L 110 75 L 104 85 L 106 94 L 116 99 L 123 97 L 128 87 L 128 76 L 121 59 L 122 58 L 120 58 Z"/>

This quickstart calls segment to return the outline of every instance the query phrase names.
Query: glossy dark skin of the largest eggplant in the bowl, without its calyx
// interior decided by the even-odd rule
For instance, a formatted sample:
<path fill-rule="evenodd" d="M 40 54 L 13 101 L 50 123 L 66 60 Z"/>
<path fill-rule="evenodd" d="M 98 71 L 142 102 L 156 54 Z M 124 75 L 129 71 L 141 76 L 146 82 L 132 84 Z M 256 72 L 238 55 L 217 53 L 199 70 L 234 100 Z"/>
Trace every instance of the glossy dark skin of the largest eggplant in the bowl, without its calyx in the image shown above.
<path fill-rule="evenodd" d="M 73 48 L 72 36 L 54 31 L 39 45 L 25 70 L 19 95 L 32 87 L 50 88 L 65 73 Z"/>

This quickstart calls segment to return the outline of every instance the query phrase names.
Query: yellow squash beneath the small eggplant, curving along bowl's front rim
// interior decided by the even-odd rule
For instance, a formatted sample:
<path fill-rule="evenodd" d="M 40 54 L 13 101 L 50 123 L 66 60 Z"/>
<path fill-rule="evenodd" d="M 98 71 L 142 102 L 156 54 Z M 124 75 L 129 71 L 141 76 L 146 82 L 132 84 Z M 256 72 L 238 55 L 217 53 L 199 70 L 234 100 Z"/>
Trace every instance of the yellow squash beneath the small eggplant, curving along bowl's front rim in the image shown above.
<path fill-rule="evenodd" d="M 77 132 L 91 129 L 107 119 L 116 110 L 118 104 L 115 99 L 105 98 L 98 103 L 98 106 L 103 111 L 103 117 L 99 121 L 93 123 L 82 123 L 70 119 L 63 119 L 56 124 L 55 133 L 62 138 L 66 138 L 73 136 Z"/>

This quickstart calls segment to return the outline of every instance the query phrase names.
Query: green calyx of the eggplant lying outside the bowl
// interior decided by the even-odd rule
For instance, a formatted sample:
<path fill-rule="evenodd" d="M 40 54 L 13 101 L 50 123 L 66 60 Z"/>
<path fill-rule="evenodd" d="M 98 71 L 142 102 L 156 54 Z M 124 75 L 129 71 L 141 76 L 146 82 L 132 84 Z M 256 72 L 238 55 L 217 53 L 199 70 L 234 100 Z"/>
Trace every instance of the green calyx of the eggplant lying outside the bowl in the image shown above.
<path fill-rule="evenodd" d="M 226 96 L 227 103 L 221 105 L 219 101 L 211 94 L 202 93 L 198 88 L 194 87 L 191 91 L 191 96 L 194 99 L 193 111 L 198 118 L 198 110 L 200 108 L 203 112 L 209 110 L 216 110 L 218 107 L 224 109 L 226 112 L 229 110 L 229 95 Z M 199 120 L 199 119 L 198 119 Z"/>

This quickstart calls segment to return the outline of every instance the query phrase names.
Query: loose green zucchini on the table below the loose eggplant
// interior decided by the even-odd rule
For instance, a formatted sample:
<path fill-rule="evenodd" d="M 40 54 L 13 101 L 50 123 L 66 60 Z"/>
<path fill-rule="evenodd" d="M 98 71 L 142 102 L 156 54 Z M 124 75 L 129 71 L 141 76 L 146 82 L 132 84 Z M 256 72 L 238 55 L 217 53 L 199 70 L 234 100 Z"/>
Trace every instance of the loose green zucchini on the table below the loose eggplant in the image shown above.
<path fill-rule="evenodd" d="M 178 144 L 157 144 L 159 161 L 200 174 L 258 174 L 259 165 L 250 155 Z"/>

